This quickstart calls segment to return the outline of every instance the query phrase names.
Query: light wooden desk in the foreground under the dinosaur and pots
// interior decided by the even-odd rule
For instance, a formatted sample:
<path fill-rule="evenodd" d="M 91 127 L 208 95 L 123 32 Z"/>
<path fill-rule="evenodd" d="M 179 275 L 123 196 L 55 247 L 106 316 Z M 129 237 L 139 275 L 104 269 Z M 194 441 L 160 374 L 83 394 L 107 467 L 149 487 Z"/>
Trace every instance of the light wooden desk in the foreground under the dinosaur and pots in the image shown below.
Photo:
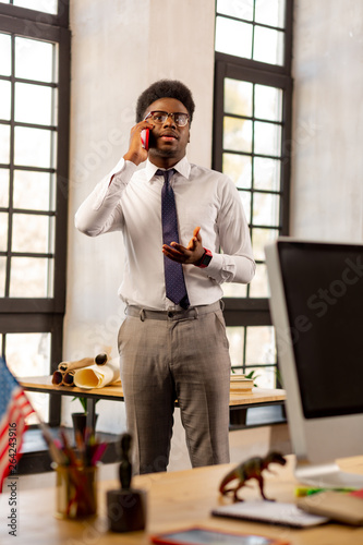
<path fill-rule="evenodd" d="M 293 477 L 293 457 L 289 456 L 285 468 L 275 467 L 276 475 L 266 473 L 265 492 L 280 501 L 294 501 L 293 489 L 298 484 Z M 363 457 L 341 461 L 344 471 L 363 474 Z M 233 532 L 256 533 L 287 540 L 291 545 L 362 545 L 363 526 L 354 528 L 337 523 L 315 526 L 310 530 L 292 530 L 283 526 L 241 522 L 230 519 L 214 518 L 210 510 L 218 505 L 229 502 L 218 494 L 222 476 L 232 465 L 215 465 L 187 471 L 154 473 L 134 477 L 134 487 L 148 492 L 148 524 L 146 532 L 113 534 L 107 530 L 105 511 L 106 491 L 118 487 L 116 481 L 100 482 L 98 486 L 98 516 L 85 521 L 57 520 L 55 512 L 55 488 L 40 488 L 22 492 L 22 477 L 19 477 L 19 533 L 23 545 L 146 545 L 149 534 L 203 524 L 206 528 Z M 56 483 L 56 475 L 55 483 Z M 251 482 L 252 483 L 252 482 Z M 243 489 L 245 499 L 258 498 L 253 487 Z M 2 545 L 14 543 L 8 534 L 9 494 L 0 495 L 0 542 Z"/>

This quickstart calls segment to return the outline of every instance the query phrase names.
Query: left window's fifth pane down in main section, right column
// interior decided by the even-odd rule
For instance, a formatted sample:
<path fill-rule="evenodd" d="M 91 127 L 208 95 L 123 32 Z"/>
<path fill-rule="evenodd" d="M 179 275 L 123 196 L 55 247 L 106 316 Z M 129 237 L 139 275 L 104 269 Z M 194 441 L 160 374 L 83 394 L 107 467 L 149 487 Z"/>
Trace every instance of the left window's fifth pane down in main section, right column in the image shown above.
<path fill-rule="evenodd" d="M 12 252 L 52 253 L 53 219 L 48 216 L 14 214 Z"/>

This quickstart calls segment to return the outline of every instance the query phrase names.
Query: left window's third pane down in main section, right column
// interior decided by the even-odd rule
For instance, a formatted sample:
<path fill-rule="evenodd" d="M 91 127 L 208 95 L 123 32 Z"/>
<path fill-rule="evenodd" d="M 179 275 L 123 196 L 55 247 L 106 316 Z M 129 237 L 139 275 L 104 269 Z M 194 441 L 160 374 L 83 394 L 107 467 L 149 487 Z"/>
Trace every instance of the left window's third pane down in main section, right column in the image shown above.
<path fill-rule="evenodd" d="M 52 132 L 15 126 L 15 165 L 51 168 Z"/>

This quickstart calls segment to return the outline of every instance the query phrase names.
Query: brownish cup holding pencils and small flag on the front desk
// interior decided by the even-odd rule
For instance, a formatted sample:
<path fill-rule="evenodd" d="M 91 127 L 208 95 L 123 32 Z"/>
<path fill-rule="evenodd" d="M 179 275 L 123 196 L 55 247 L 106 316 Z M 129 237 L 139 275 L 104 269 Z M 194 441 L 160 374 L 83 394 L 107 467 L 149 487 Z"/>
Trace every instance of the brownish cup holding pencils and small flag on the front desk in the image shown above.
<path fill-rule="evenodd" d="M 74 465 L 57 465 L 56 517 L 82 519 L 97 512 L 97 470 Z"/>

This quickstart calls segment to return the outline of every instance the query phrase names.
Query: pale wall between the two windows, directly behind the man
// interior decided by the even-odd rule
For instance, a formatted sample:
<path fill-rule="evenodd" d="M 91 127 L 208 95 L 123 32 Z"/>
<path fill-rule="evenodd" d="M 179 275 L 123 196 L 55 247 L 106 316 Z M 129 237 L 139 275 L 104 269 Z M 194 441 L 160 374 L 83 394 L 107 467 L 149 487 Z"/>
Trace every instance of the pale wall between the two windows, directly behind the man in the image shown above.
<path fill-rule="evenodd" d="M 138 95 L 161 77 L 191 87 L 196 104 L 187 156 L 210 167 L 214 0 L 72 0 L 71 169 L 64 359 L 112 346 L 124 305 L 120 233 L 89 239 L 74 214 L 128 150 Z M 76 402 L 74 402 L 76 403 Z M 72 410 L 74 410 L 74 403 Z M 64 399 L 63 420 L 69 419 Z M 123 403 L 102 402 L 97 427 L 121 431 Z M 80 408 L 80 407 L 78 407 Z M 117 408 L 117 410 L 116 410 Z M 113 410 L 112 410 L 113 409 Z"/>

